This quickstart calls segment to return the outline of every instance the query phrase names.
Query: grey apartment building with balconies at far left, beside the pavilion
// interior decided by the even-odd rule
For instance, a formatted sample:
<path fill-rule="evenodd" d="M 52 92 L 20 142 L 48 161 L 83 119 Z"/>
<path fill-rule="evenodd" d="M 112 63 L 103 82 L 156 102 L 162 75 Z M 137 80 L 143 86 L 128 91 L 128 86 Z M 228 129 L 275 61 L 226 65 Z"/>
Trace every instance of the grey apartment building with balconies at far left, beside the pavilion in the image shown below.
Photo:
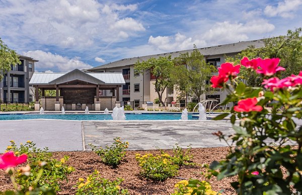
<path fill-rule="evenodd" d="M 34 101 L 34 90 L 29 81 L 35 70 L 37 60 L 19 55 L 21 64 L 11 65 L 11 70 L 4 73 L 0 81 L 0 100 L 4 103 L 29 103 Z"/>

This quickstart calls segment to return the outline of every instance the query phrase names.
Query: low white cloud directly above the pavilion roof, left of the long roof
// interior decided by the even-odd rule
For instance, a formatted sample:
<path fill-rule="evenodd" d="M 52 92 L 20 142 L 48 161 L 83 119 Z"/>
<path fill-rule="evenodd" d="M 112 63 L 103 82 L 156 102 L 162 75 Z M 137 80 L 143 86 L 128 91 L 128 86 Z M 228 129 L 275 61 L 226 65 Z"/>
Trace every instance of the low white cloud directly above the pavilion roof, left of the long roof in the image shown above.
<path fill-rule="evenodd" d="M 28 51 L 24 55 L 30 56 L 39 62 L 35 63 L 35 68 L 38 71 L 56 70 L 60 72 L 68 72 L 73 69 L 88 69 L 93 66 L 84 63 L 80 60 L 80 57 L 68 58 L 58 54 L 52 54 L 41 50 Z"/>

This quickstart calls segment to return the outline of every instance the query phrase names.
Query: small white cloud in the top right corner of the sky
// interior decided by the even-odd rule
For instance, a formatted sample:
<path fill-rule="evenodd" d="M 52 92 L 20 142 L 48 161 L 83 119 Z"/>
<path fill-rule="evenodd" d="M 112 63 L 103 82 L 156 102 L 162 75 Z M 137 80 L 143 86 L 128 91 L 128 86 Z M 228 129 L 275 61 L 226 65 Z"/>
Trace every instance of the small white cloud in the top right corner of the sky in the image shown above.
<path fill-rule="evenodd" d="M 281 16 L 282 18 L 293 18 L 294 11 L 299 10 L 302 0 L 284 0 L 278 6 L 266 6 L 264 14 L 268 17 Z"/>

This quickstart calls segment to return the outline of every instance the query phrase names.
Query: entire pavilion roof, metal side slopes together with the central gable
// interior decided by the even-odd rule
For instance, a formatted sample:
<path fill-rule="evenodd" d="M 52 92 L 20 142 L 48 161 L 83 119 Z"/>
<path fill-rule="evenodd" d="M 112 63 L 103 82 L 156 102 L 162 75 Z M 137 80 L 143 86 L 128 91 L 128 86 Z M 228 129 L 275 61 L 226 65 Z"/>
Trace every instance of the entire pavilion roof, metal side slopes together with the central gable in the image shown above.
<path fill-rule="evenodd" d="M 83 72 L 79 69 L 74 69 L 70 72 L 34 72 L 29 84 L 61 84 L 71 80 L 82 80 L 104 85 L 125 84 L 124 77 L 120 72 Z"/>

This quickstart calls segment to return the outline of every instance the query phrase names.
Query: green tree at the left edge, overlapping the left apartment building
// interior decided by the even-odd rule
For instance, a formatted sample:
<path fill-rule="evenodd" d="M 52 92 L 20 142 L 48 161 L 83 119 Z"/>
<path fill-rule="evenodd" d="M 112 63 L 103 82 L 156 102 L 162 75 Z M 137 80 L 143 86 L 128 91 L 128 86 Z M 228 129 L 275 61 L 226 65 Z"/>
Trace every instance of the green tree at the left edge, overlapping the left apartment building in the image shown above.
<path fill-rule="evenodd" d="M 0 81 L 3 79 L 3 73 L 11 70 L 11 64 L 21 64 L 21 62 L 17 53 L 0 38 Z"/>

